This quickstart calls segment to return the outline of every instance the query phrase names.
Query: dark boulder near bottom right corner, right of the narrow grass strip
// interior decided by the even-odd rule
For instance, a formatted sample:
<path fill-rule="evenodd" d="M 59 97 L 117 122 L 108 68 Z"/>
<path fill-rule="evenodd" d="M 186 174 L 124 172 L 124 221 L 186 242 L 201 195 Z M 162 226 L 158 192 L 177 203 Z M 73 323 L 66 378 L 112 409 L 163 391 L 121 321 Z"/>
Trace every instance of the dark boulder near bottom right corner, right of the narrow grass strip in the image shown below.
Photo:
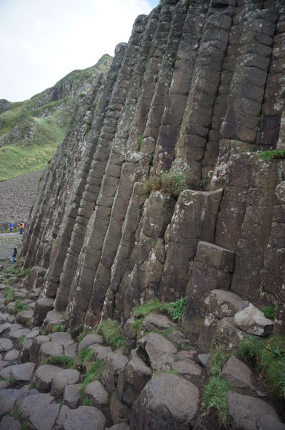
<path fill-rule="evenodd" d="M 257 421 L 266 414 L 279 421 L 275 409 L 261 399 L 228 392 L 227 404 L 235 429 L 255 430 Z"/>

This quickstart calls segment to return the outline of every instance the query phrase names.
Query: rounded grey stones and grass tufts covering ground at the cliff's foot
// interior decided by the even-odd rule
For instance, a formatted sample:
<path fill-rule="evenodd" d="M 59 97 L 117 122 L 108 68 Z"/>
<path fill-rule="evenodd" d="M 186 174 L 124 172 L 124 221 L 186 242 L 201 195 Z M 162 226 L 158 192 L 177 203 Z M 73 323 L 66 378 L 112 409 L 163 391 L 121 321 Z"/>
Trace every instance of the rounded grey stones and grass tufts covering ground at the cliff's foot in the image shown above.
<path fill-rule="evenodd" d="M 130 318 L 112 349 L 94 331 L 72 338 L 39 289 L 4 271 L 1 281 L 0 430 L 285 429 L 278 402 L 236 356 L 222 366 L 230 419 L 219 427 L 203 406 L 210 355 L 165 314 Z"/>

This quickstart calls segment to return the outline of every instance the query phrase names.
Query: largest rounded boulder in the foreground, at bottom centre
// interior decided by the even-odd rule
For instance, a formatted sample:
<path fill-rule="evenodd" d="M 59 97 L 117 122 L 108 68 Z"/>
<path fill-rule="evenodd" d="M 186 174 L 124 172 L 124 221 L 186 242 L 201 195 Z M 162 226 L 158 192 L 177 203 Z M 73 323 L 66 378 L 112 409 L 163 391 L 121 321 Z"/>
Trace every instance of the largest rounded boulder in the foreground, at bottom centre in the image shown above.
<path fill-rule="evenodd" d="M 189 430 L 199 409 L 199 389 L 173 374 L 159 374 L 147 382 L 133 405 L 133 430 Z"/>

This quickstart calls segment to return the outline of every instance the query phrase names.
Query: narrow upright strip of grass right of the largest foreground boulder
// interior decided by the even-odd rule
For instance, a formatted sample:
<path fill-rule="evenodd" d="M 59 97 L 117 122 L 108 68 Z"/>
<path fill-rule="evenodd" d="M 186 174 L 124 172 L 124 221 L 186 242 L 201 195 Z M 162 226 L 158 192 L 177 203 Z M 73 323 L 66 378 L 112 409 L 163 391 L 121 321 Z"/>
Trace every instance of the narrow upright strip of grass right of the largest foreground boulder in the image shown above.
<path fill-rule="evenodd" d="M 219 424 L 227 427 L 229 424 L 229 409 L 227 406 L 226 394 L 231 387 L 226 379 L 222 379 L 220 374 L 230 354 L 222 348 L 214 349 L 211 352 L 209 364 L 209 379 L 204 387 L 203 405 L 206 409 L 217 410 Z"/>

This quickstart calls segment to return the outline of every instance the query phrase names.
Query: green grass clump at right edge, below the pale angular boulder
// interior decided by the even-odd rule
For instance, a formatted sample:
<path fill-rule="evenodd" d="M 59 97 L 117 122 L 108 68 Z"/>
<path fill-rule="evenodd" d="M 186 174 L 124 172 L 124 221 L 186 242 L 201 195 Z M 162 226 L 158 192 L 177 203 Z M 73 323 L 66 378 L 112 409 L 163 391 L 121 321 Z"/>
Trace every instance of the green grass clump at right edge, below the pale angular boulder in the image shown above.
<path fill-rule="evenodd" d="M 260 339 L 245 336 L 239 342 L 239 358 L 257 364 L 269 389 L 278 396 L 285 395 L 285 336 L 270 336 Z"/>

